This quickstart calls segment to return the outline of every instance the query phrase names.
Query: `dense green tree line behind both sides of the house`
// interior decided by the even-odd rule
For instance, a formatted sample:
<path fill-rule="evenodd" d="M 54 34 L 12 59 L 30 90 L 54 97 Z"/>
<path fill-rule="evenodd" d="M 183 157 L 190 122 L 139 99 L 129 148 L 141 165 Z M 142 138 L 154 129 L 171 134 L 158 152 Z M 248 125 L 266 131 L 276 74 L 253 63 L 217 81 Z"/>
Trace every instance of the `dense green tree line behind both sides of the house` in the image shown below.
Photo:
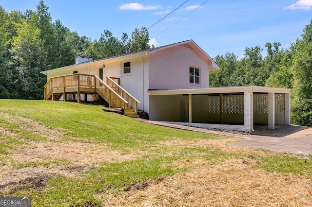
<path fill-rule="evenodd" d="M 52 22 L 48 7 L 7 13 L 0 6 L 0 98 L 43 99 L 46 76 L 40 71 L 75 63 L 75 56 L 94 60 L 150 48 L 146 27 L 121 38 L 105 30 L 91 40 L 71 32 L 59 19 Z M 292 88 L 292 123 L 312 126 L 312 21 L 290 47 L 279 42 L 246 48 L 244 57 L 217 55 L 221 70 L 210 74 L 210 86 L 271 86 Z"/>

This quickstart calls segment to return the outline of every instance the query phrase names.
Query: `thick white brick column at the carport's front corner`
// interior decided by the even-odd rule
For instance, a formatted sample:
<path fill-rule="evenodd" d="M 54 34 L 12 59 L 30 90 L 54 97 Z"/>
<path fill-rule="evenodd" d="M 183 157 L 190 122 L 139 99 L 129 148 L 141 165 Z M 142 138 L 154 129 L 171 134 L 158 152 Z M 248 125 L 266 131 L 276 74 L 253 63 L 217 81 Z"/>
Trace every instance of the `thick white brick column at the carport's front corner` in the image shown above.
<path fill-rule="evenodd" d="M 244 92 L 244 128 L 252 133 L 254 131 L 254 93 Z"/>

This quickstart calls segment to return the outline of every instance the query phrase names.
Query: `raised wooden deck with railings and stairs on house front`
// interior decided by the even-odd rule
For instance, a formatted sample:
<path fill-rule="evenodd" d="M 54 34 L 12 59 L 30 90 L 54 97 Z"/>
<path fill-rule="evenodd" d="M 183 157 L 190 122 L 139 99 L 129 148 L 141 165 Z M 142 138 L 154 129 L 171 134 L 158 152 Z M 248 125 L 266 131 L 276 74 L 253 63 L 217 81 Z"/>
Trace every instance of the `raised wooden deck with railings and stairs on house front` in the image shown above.
<path fill-rule="evenodd" d="M 44 86 L 44 100 L 58 101 L 66 94 L 78 94 L 77 103 L 80 103 L 81 94 L 98 94 L 109 107 L 123 108 L 124 114 L 136 117 L 137 104 L 140 104 L 131 94 L 119 86 L 117 78 L 106 77 L 106 83 L 96 75 L 72 74 L 51 78 Z"/>

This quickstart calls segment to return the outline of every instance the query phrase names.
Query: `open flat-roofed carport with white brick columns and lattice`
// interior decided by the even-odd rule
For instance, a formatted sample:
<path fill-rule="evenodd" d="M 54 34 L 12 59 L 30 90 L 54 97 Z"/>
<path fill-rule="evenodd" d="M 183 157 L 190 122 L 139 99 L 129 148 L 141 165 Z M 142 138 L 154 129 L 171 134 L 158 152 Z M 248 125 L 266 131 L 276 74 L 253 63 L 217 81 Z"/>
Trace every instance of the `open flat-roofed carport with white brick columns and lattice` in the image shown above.
<path fill-rule="evenodd" d="M 153 121 L 208 129 L 253 132 L 254 124 L 290 124 L 287 88 L 237 86 L 180 90 L 149 90 Z"/>

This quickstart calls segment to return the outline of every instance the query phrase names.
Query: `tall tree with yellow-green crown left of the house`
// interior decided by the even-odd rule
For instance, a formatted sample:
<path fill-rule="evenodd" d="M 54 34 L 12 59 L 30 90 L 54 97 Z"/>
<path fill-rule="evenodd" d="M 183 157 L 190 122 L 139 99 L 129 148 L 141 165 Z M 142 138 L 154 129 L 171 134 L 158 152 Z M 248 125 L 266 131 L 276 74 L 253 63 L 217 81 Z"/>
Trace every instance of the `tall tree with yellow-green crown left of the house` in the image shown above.
<path fill-rule="evenodd" d="M 19 99 L 38 99 L 42 96 L 39 78 L 40 30 L 24 20 L 17 25 L 17 36 L 13 38 L 10 49 L 11 97 Z M 41 93 L 41 95 L 40 95 Z"/>

